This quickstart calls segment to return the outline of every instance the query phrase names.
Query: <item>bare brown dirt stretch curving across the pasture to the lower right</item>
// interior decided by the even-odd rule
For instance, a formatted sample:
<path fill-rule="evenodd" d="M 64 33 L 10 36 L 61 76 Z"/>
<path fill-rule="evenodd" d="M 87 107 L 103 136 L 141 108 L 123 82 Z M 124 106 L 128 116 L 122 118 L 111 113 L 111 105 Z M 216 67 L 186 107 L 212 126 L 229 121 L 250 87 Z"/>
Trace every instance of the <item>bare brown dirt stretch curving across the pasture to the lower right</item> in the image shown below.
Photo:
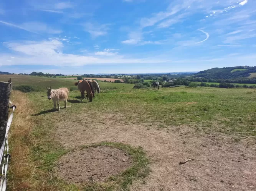
<path fill-rule="evenodd" d="M 142 146 L 152 159 L 152 172 L 145 185 L 132 185 L 134 191 L 256 190 L 255 142 L 247 146 L 223 135 L 200 135 L 185 126 L 157 130 L 124 125 L 119 115 L 93 117 L 86 114 L 83 120 L 62 121 L 56 140 L 68 148 L 101 141 Z M 187 159 L 195 160 L 178 164 Z"/>

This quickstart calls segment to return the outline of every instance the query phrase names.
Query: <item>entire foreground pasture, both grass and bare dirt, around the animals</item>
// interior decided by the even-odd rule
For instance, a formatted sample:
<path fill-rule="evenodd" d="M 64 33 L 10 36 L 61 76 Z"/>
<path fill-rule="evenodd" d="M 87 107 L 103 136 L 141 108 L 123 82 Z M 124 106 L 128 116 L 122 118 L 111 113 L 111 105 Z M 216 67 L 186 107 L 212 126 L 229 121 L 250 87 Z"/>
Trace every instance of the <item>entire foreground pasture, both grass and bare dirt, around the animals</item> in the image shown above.
<path fill-rule="evenodd" d="M 17 111 L 10 132 L 9 190 L 256 188 L 253 89 L 153 90 L 99 82 L 101 92 L 93 101 L 81 102 L 75 80 L 0 75 L 0 81 L 9 78 L 13 86 L 35 89 L 12 91 Z M 46 86 L 71 90 L 66 109 L 60 102 L 61 110 L 53 110 Z M 120 162 L 109 159 L 112 155 Z M 188 159 L 194 160 L 179 164 Z M 112 173 L 116 168 L 119 172 Z"/>

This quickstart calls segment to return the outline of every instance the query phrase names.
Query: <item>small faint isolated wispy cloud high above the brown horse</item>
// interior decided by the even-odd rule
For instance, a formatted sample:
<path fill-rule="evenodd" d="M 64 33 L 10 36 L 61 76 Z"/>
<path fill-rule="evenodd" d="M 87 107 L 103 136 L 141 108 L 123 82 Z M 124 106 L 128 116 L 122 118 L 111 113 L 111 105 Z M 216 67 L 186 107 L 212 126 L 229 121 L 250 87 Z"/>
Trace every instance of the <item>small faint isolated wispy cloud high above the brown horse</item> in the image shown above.
<path fill-rule="evenodd" d="M 86 23 L 84 24 L 84 30 L 89 32 L 93 38 L 96 38 L 98 36 L 104 36 L 107 34 L 107 31 L 109 30 L 110 24 L 92 24 L 92 23 Z"/>

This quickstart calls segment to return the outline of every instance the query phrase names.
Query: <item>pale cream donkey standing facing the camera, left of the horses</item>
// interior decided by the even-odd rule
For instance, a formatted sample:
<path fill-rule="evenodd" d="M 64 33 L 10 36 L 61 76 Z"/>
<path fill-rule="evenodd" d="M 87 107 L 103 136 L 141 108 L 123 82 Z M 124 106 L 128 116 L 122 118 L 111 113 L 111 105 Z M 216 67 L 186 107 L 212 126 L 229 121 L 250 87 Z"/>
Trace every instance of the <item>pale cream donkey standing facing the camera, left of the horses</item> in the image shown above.
<path fill-rule="evenodd" d="M 50 88 L 46 87 L 46 89 L 47 89 L 48 99 L 53 100 L 53 104 L 54 104 L 55 109 L 56 109 L 56 102 L 57 102 L 58 110 L 60 110 L 59 101 L 64 101 L 64 103 L 65 103 L 64 108 L 67 107 L 67 100 L 68 100 L 68 93 L 69 92 L 68 92 L 68 89 L 66 87 L 61 87 L 59 89 L 52 89 L 51 87 Z"/>

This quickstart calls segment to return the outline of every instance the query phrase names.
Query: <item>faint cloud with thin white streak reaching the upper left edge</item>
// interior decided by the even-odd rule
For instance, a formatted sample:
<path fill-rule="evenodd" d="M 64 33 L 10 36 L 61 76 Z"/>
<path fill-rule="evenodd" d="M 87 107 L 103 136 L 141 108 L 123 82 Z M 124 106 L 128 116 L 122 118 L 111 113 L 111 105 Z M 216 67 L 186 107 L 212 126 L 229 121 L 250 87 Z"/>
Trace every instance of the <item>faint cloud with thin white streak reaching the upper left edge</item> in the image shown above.
<path fill-rule="evenodd" d="M 5 21 L 0 21 L 0 23 L 14 27 L 14 28 L 22 29 L 28 32 L 33 32 L 36 34 L 39 34 L 40 32 L 49 33 L 49 34 L 59 34 L 62 32 L 61 30 L 58 30 L 58 29 L 52 29 L 44 23 L 28 22 L 28 23 L 23 23 L 21 25 L 7 23 Z"/>

